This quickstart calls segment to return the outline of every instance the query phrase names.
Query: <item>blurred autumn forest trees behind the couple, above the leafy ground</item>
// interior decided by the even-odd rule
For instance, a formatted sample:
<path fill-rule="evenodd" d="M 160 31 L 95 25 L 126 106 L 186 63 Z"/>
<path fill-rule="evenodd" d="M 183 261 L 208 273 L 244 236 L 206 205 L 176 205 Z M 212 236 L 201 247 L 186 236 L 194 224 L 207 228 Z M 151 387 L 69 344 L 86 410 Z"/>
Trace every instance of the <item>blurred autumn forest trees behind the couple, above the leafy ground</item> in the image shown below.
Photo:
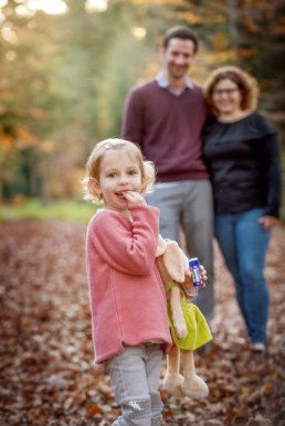
<path fill-rule="evenodd" d="M 198 83 L 225 64 L 257 78 L 285 189 L 284 12 L 283 0 L 0 0 L 0 203 L 82 199 L 92 147 L 119 135 L 125 96 L 156 75 L 173 24 L 201 40 Z"/>

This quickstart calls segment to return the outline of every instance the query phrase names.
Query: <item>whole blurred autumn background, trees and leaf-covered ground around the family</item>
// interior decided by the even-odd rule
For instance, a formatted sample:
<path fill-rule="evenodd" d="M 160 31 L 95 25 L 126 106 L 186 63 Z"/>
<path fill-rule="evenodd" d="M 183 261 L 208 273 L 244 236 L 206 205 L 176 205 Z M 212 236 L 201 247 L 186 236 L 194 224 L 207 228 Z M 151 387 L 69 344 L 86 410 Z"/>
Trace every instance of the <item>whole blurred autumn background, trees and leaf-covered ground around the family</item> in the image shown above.
<path fill-rule="evenodd" d="M 284 12 L 284 0 L 0 0 L 1 426 L 109 426 L 119 414 L 93 365 L 84 248 L 96 206 L 82 200 L 81 180 L 94 143 L 119 135 L 129 88 L 160 68 L 166 29 L 199 34 L 200 84 L 225 64 L 258 79 L 285 177 Z M 210 395 L 161 388 L 163 426 L 285 426 L 284 204 L 264 270 L 265 356 L 250 351 L 215 245 L 213 344 L 196 351 Z"/>

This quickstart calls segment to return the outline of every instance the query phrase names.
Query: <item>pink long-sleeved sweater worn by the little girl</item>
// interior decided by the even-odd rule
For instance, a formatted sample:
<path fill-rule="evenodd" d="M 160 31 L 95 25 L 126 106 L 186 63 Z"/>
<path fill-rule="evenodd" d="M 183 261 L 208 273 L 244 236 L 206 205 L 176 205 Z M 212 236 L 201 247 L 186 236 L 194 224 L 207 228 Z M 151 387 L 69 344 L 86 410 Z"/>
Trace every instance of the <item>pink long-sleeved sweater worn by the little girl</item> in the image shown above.
<path fill-rule="evenodd" d="M 99 211 L 87 230 L 86 254 L 95 362 L 137 345 L 172 344 L 163 284 L 156 264 L 159 210 L 129 207 L 133 223 L 118 212 Z"/>

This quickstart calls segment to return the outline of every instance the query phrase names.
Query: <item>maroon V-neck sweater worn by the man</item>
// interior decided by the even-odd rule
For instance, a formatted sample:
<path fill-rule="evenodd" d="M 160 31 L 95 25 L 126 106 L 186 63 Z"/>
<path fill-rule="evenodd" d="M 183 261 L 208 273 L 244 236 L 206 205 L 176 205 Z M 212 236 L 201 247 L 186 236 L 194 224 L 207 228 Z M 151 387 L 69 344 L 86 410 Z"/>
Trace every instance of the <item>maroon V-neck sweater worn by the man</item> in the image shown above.
<path fill-rule="evenodd" d="M 155 162 L 158 181 L 208 179 L 201 139 L 207 116 L 199 86 L 175 96 L 151 81 L 130 92 L 122 136 L 138 143 L 146 159 Z"/>

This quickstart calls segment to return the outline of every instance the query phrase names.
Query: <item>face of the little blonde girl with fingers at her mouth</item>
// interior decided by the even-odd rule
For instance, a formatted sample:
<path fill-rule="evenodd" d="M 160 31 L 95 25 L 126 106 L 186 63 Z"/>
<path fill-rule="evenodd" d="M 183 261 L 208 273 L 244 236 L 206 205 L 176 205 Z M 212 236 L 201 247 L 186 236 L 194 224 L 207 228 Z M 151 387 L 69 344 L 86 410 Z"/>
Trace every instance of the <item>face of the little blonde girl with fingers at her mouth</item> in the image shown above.
<path fill-rule="evenodd" d="M 140 193 L 141 172 L 136 160 L 124 150 L 106 150 L 99 171 L 98 188 L 105 207 L 128 215 L 127 192 Z"/>

